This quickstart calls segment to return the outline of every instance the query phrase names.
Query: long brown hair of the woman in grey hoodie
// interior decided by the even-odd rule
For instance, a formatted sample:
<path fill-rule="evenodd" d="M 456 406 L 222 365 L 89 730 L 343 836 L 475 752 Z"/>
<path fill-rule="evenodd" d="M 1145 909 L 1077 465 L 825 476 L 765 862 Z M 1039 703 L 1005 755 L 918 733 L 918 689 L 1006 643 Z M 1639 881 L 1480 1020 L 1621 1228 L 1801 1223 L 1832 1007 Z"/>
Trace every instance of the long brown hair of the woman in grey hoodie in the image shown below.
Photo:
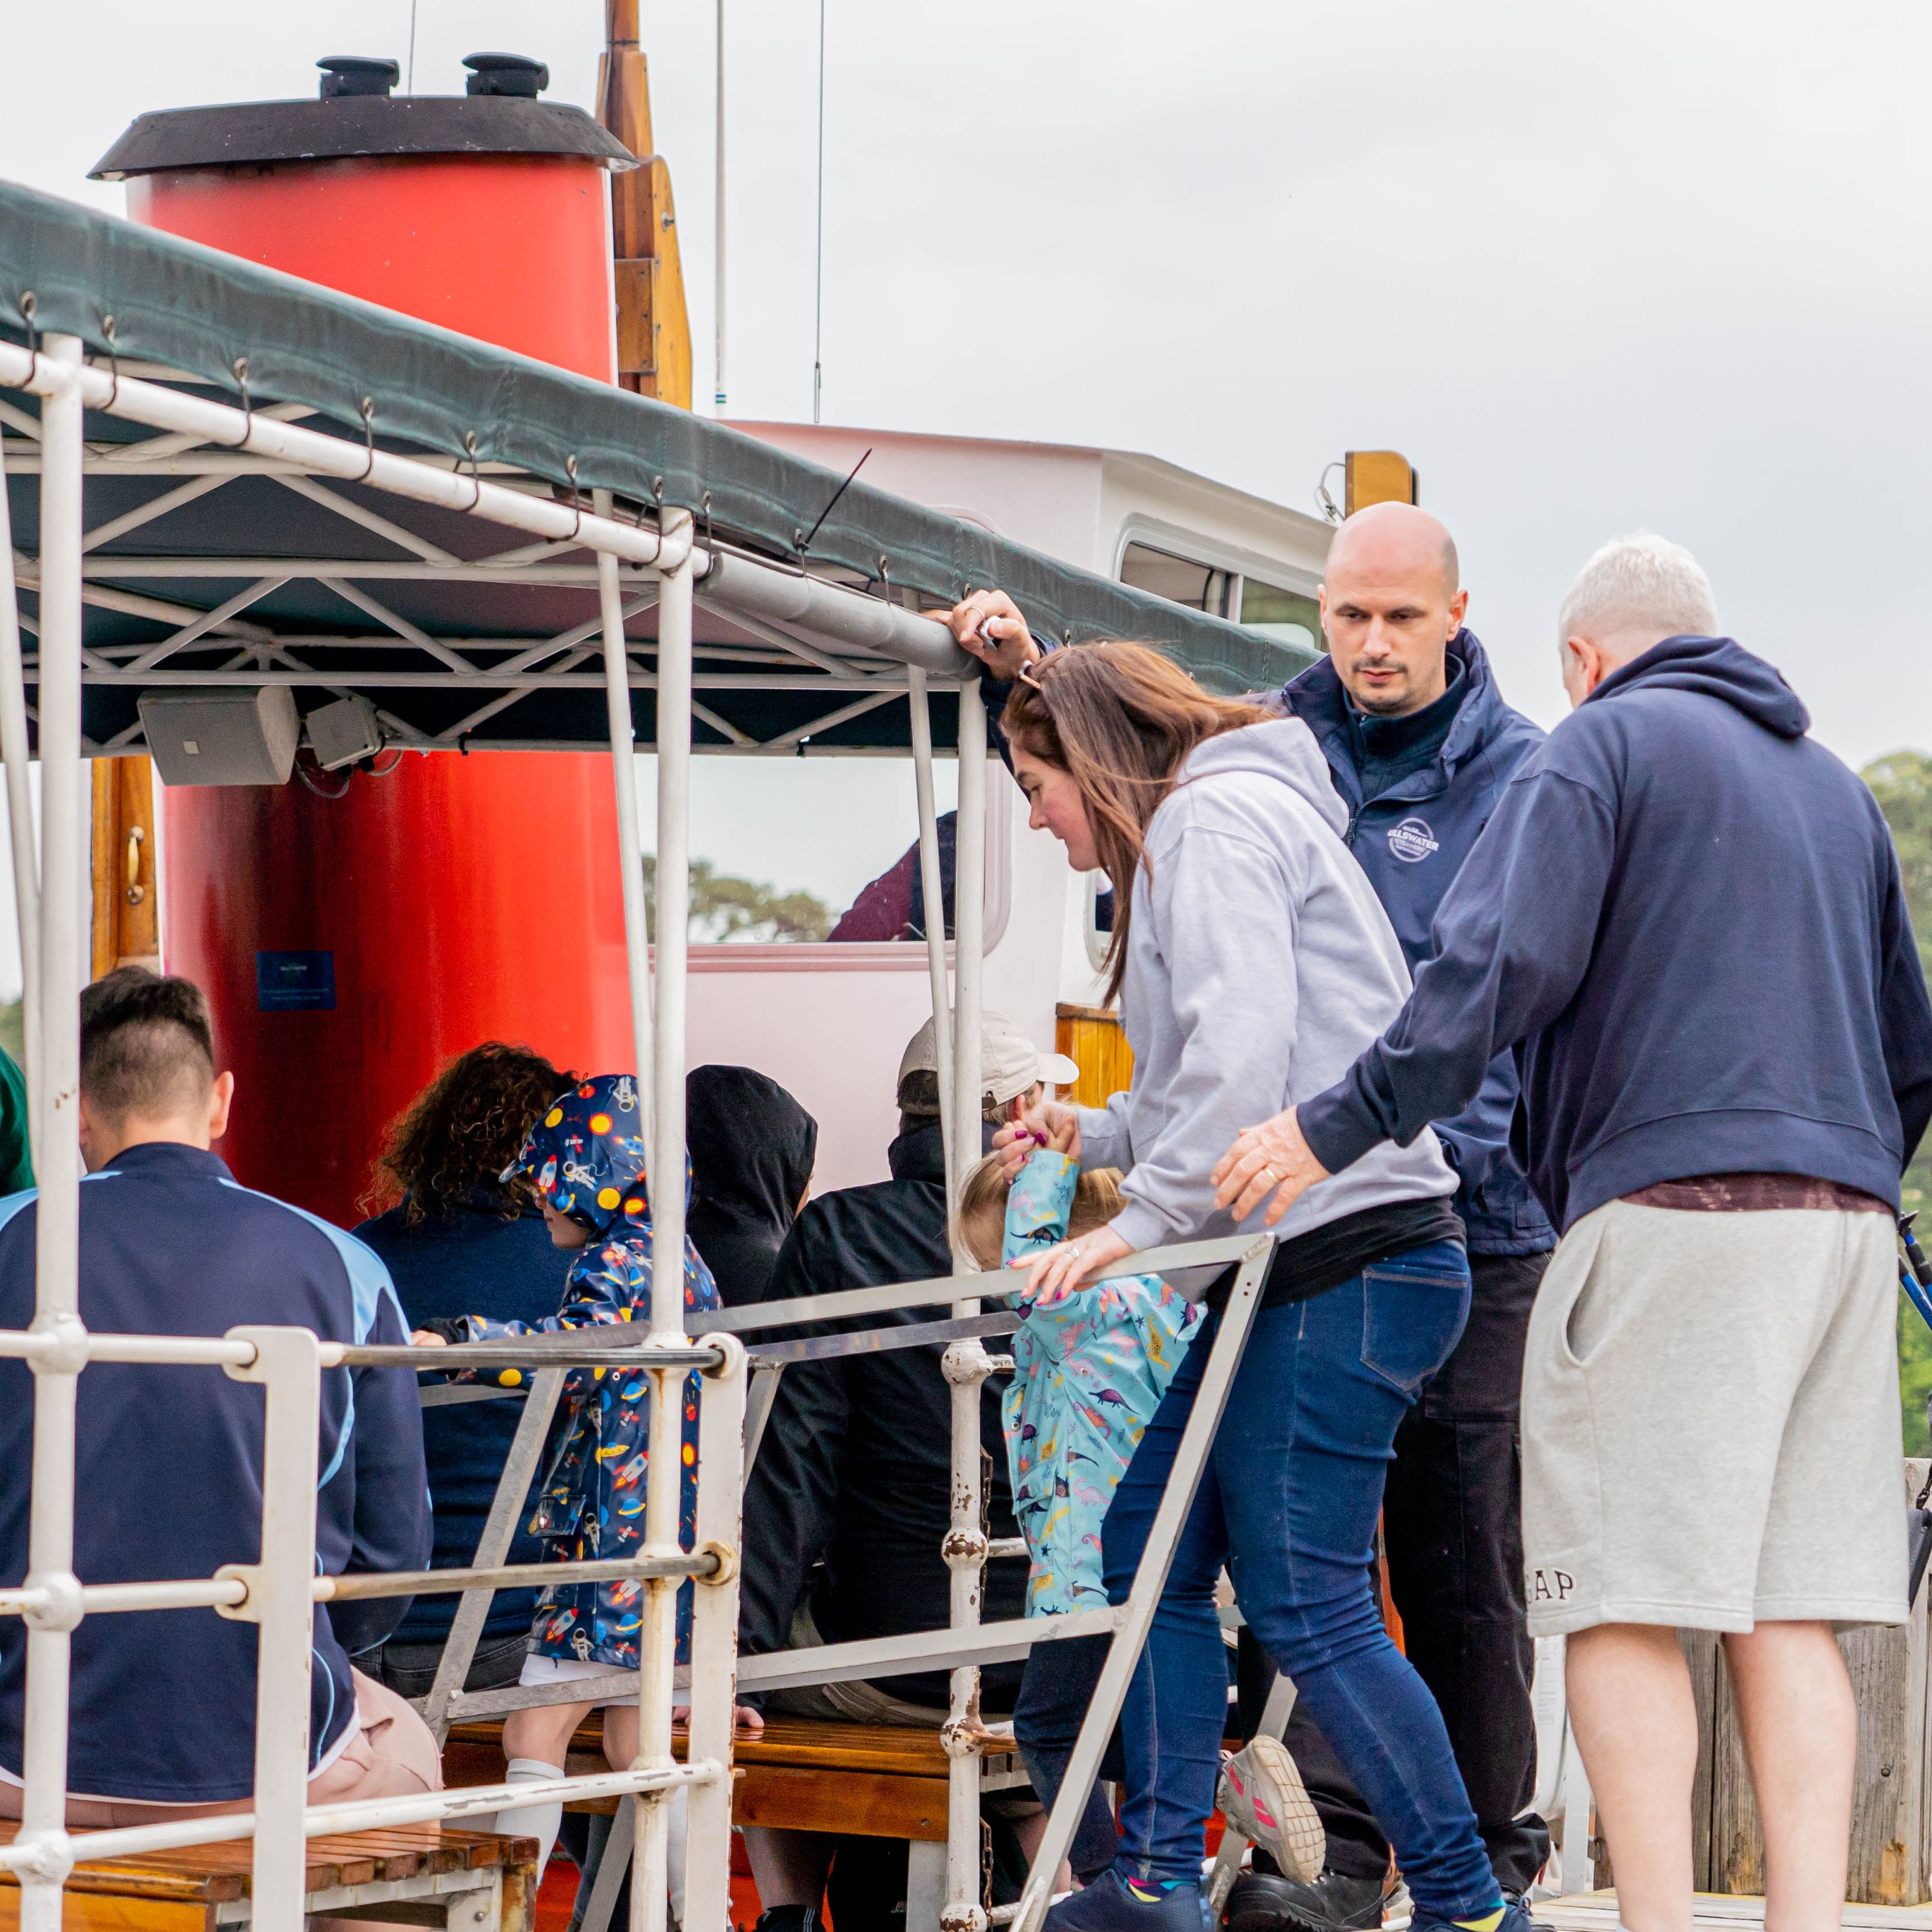
<path fill-rule="evenodd" d="M 1269 717 L 1260 705 L 1204 692 L 1159 651 L 1119 641 L 1051 651 L 1007 697 L 1007 738 L 1070 773 L 1086 800 L 1094 846 L 1113 881 L 1113 933 L 1101 960 L 1109 1001 L 1126 978 L 1134 875 L 1153 875 L 1153 813 L 1198 744 Z"/>

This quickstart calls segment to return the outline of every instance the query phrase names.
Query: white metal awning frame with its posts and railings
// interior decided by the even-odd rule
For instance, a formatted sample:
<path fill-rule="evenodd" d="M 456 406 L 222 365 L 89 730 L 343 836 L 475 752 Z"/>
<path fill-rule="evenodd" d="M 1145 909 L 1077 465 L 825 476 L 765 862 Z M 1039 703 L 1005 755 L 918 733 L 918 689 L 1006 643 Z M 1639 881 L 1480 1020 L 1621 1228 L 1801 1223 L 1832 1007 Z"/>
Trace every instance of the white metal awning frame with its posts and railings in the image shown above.
<path fill-rule="evenodd" d="M 423 460 L 323 435 L 303 427 L 303 408 L 232 408 L 170 384 L 166 371 L 100 367 L 85 359 L 73 334 L 48 334 L 44 348 L 19 348 L 0 340 L 0 388 L 39 398 L 41 413 L 0 402 L 0 423 L 19 431 L 0 442 L 0 504 L 4 504 L 4 466 L 19 460 L 37 469 L 39 556 L 0 543 L 0 755 L 8 765 L 10 798 L 15 800 L 15 895 L 27 958 L 27 1059 L 35 1121 L 35 1165 L 41 1175 L 37 1318 L 31 1335 L 6 1337 L 6 1352 L 25 1356 L 37 1376 L 33 1437 L 33 1519 L 31 1577 L 21 1605 L 29 1619 L 23 1820 L 14 1847 L 0 1862 L 21 1876 L 21 1924 L 25 1932 L 54 1932 L 62 1913 L 62 1880 L 73 1862 L 73 1841 L 64 1826 L 66 1739 L 68 1739 L 68 1656 L 73 1625 L 79 1621 L 79 1584 L 71 1575 L 75 1511 L 75 1383 L 85 1370 L 91 1339 L 79 1316 L 79 1148 L 75 1105 L 79 1090 L 77 1001 L 81 991 L 81 854 L 87 823 L 83 757 L 139 750 L 137 732 L 124 730 L 114 742 L 89 744 L 81 736 L 81 697 L 95 686 L 164 684 L 299 684 L 321 690 L 413 690 L 444 686 L 493 696 L 471 707 L 468 724 L 500 715 L 522 694 L 535 690 L 603 688 L 607 699 L 609 750 L 618 794 L 616 864 L 624 881 L 624 923 L 628 989 L 639 1074 L 645 1099 L 645 1134 L 655 1173 L 680 1173 L 684 1165 L 684 1078 L 686 1078 L 686 989 L 688 933 L 686 898 L 690 873 L 690 757 L 694 721 L 707 719 L 699 690 L 808 690 L 837 699 L 817 724 L 788 730 L 771 742 L 734 742 L 732 730 L 715 721 L 721 736 L 738 753 L 792 750 L 811 730 L 833 728 L 840 719 L 869 707 L 908 699 L 914 775 L 920 815 L 920 873 L 929 904 L 941 898 L 937 815 L 933 800 L 933 730 L 929 694 L 956 696 L 958 723 L 958 829 L 954 850 L 954 933 L 949 947 L 941 922 L 927 941 L 927 970 L 935 1018 L 945 1041 L 941 1051 L 941 1126 L 947 1144 L 949 1198 L 980 1157 L 981 1084 L 980 1020 L 983 985 L 983 893 L 985 893 L 985 784 L 987 719 L 980 696 L 978 665 L 958 651 L 951 632 L 929 616 L 908 609 L 896 597 L 873 595 L 840 582 L 833 574 L 806 572 L 740 554 L 705 533 L 699 539 L 688 510 L 668 504 L 641 506 L 626 516 L 609 493 L 599 491 L 585 510 L 582 498 L 558 500 L 549 483 L 506 475 L 500 466 Z M 205 384 L 197 384 L 205 386 Z M 133 448 L 83 442 L 85 412 L 139 423 L 158 433 L 149 446 L 149 473 L 182 475 L 184 481 L 147 514 L 122 512 L 89 529 L 83 520 L 83 483 L 89 475 L 131 469 L 143 462 Z M 135 446 L 137 448 L 137 446 Z M 216 462 L 218 460 L 218 462 Z M 255 469 L 242 468 L 255 462 Z M 166 468 L 164 468 L 166 466 Z M 189 468 L 180 468 L 189 466 Z M 203 468 L 195 468 L 203 466 Z M 214 468 L 205 468 L 214 466 Z M 274 466 L 270 469 L 270 466 Z M 485 475 L 485 469 L 489 471 Z M 164 522 L 191 502 L 205 502 L 238 475 L 272 473 L 305 502 L 336 510 L 342 504 L 330 483 L 381 491 L 394 502 L 429 504 L 466 518 L 520 531 L 526 539 L 495 558 L 448 560 L 452 553 L 421 539 L 421 533 L 365 504 L 352 502 L 348 520 L 406 551 L 381 568 L 348 558 L 224 556 L 168 558 L 158 554 L 128 558 L 108 553 L 108 545 L 133 531 Z M 344 500 L 350 502 L 350 500 Z M 6 535 L 6 531 L 0 531 Z M 564 562 L 576 551 L 591 553 L 591 564 Z M 243 580 L 243 589 L 209 609 L 178 605 L 149 589 L 129 587 L 155 580 L 220 582 L 224 574 Z M 477 639 L 452 643 L 433 638 L 413 620 L 388 609 L 386 601 L 363 585 L 383 580 L 431 582 L 568 582 L 593 587 L 593 622 L 547 638 Z M 381 624 L 388 638 L 381 649 L 413 653 L 415 663 L 394 672 L 350 663 L 350 651 L 371 653 L 371 639 L 344 634 L 290 634 L 261 624 L 247 612 L 280 583 L 313 578 L 327 583 L 363 616 Z M 29 624 L 17 626 L 21 587 L 39 597 Z M 699 645 L 694 636 L 699 587 L 707 609 L 742 624 L 752 639 L 732 645 L 728 663 L 738 670 L 699 670 L 719 651 Z M 87 647 L 83 611 L 93 603 L 128 616 L 166 626 L 166 634 L 145 643 Z M 649 611 L 657 636 L 651 641 L 626 634 L 632 616 Z M 19 628 L 37 638 L 29 657 Z M 763 649 L 761 649 L 763 647 Z M 222 653 L 214 665 L 182 665 L 184 655 Z M 332 655 L 334 653 L 334 655 Z M 421 659 L 429 663 L 423 665 Z M 487 659 L 487 661 L 485 661 Z M 597 663 L 601 659 L 601 665 Z M 753 668 L 759 667 L 759 668 Z M 37 705 L 27 705 L 27 688 Z M 636 726 L 632 692 L 651 690 L 657 697 L 657 943 L 645 931 L 643 873 L 636 811 Z M 29 723 L 39 730 L 43 763 L 43 815 L 39 866 L 33 864 L 31 821 L 25 806 Z M 423 732 L 388 717 L 396 742 L 413 750 L 450 748 L 466 736 L 462 724 Z M 740 740 L 744 732 L 736 734 Z M 582 750 L 582 740 L 574 742 Z M 25 840 L 25 848 L 23 848 Z M 21 864 L 25 856 L 25 864 Z M 680 1437 L 684 1378 L 690 1368 L 690 1339 L 684 1325 L 684 1196 L 663 1188 L 653 1217 L 653 1296 L 647 1333 L 641 1337 L 638 1370 L 651 1385 L 651 1439 L 674 1443 Z M 980 1528 L 980 1389 L 993 1370 L 978 1335 L 954 1341 L 945 1356 L 952 1387 L 952 1522 L 947 1536 L 947 1563 L 952 1573 L 951 1627 L 929 1638 L 895 1638 L 879 1646 L 831 1646 L 823 1658 L 796 1656 L 782 1663 L 761 1663 L 746 1677 L 794 1679 L 821 1671 L 860 1675 L 881 1663 L 908 1663 L 943 1658 L 952 1665 L 951 1712 L 943 1737 L 951 1754 L 949 1849 L 943 1932 L 983 1932 L 987 1915 L 980 1903 L 980 1768 L 972 1733 L 978 1723 L 978 1667 L 999 1656 L 1014 1656 L 1034 1640 L 1113 1631 L 1115 1642 L 1099 1690 L 1084 1723 L 1080 1743 L 1049 1820 L 1045 1843 L 1034 1864 L 1016 1922 L 1034 1932 L 1047 1905 L 1051 1878 L 1066 1853 L 1099 1754 L 1119 1714 L 1128 1675 L 1151 1623 L 1167 1563 L 1192 1501 L 1194 1484 L 1206 1463 L 1227 1387 L 1240 1356 L 1265 1267 L 1265 1240 L 1196 1244 L 1180 1250 L 1186 1260 L 1240 1260 L 1221 1331 L 1215 1339 L 1202 1393 L 1184 1432 L 1175 1476 L 1155 1517 L 1153 1532 L 1136 1573 L 1130 1600 L 1119 1609 L 1090 1619 L 1049 1619 L 1039 1627 L 991 1627 L 980 1631 L 980 1584 L 989 1555 Z M 1159 1258 L 1155 1258 L 1159 1260 Z M 980 1314 L 983 1281 L 964 1256 L 954 1258 L 951 1316 L 956 1321 Z M 902 1306 L 931 1298 L 933 1285 L 891 1291 Z M 889 1304 L 887 1291 L 866 1291 L 866 1306 Z M 810 1318 L 808 1304 L 763 1312 L 755 1325 L 784 1325 Z M 734 1323 L 746 1325 L 746 1323 Z M 330 1356 L 319 1350 L 307 1331 L 259 1329 L 251 1339 L 249 1366 L 230 1372 L 243 1379 L 270 1383 L 270 1457 L 265 1495 L 263 1563 L 251 1571 L 249 1596 L 259 1590 L 259 1611 L 243 1609 L 263 1625 L 263 1656 L 305 1656 L 309 1594 L 313 1578 L 301 1555 L 299 1511 L 276 1515 L 274 1497 L 299 1492 L 307 1503 L 307 1544 L 313 1546 L 315 1478 L 315 1385 L 317 1364 Z M 147 1347 L 145 1337 L 133 1339 Z M 286 1349 L 282 1347 L 286 1345 Z M 730 1337 L 721 1343 L 723 1370 L 707 1374 L 699 1410 L 699 1549 L 736 1551 L 740 1526 L 744 1352 Z M 276 1350 L 282 1350 L 280 1356 Z M 336 1347 L 336 1354 L 340 1349 Z M 270 1360 L 274 1356 L 274 1360 Z M 286 1358 L 284 1358 L 286 1356 Z M 137 1354 L 162 1360 L 162 1352 Z M 226 1362 L 228 1358 L 222 1356 Z M 240 1358 L 236 1358 L 240 1360 Z M 554 1406 L 560 1374 L 537 1378 L 537 1393 L 520 1432 L 520 1459 L 527 1463 L 541 1435 L 547 1410 Z M 276 1447 L 280 1445 L 280 1447 Z M 301 1453 L 307 1466 L 301 1466 Z M 290 1478 L 294 1488 L 290 1490 Z M 709 1478 L 709 1480 L 707 1480 Z M 624 1774 L 593 1779 L 560 1779 L 554 1787 L 518 1787 L 533 1797 L 597 1791 L 632 1793 L 636 1801 L 636 1884 L 632 1888 L 634 1932 L 663 1932 L 672 1789 L 690 1791 L 690 1843 L 703 1845 L 688 1874 L 688 1913 L 699 1926 L 713 1926 L 728 1915 L 726 1861 L 730 1785 L 723 1770 L 730 1762 L 732 1706 L 736 1683 L 736 1565 L 711 1563 L 709 1580 L 697 1588 L 690 1689 L 688 1766 L 672 1758 L 672 1702 L 676 1696 L 676 1594 L 692 1571 L 678 1544 L 680 1459 L 657 1455 L 645 1478 L 645 1540 L 639 1555 L 655 1565 L 641 1584 L 641 1667 L 636 1673 L 639 1702 L 639 1756 Z M 522 1484 L 506 1470 L 493 1509 L 479 1569 L 493 1569 L 491 1549 L 506 1542 L 510 1513 Z M 508 1497 L 508 1503 L 506 1503 Z M 270 1544 L 290 1557 L 290 1575 L 299 1580 L 299 1602 L 276 1584 L 280 1571 L 270 1561 Z M 292 1553 L 292 1555 L 290 1555 Z M 500 1555 L 500 1553 L 498 1553 Z M 288 1567 L 288 1565 L 284 1565 Z M 495 1565 L 500 1569 L 500 1563 Z M 454 1573 L 462 1586 L 473 1573 Z M 139 1590 L 141 1586 L 129 1586 Z M 153 1586 L 153 1588 L 176 1588 Z M 458 1627 L 473 1642 L 481 1625 L 481 1602 L 489 1582 L 466 1592 Z M 284 1602 L 286 1598 L 286 1602 Z M 66 1607 L 64 1607 L 66 1605 Z M 139 1607 L 133 1600 L 120 1607 Z M 71 1609 L 71 1613 L 70 1613 Z M 1051 1625 L 1051 1627 L 1049 1627 Z M 270 1644 L 270 1636 L 274 1642 Z M 276 1648 L 280 1646 L 280 1648 Z M 831 1654 L 831 1652 L 837 1652 Z M 462 1710 L 456 1690 L 462 1662 L 446 1658 L 431 1706 L 440 1719 Z M 498 1700 L 502 1694 L 497 1694 Z M 533 1689 L 524 1702 L 549 1702 Z M 301 1909 L 303 1837 L 327 1820 L 350 1822 L 348 1812 L 307 1812 L 303 1791 L 307 1737 L 305 1671 L 263 1669 L 257 1685 L 257 1814 L 249 1820 L 214 1820 L 135 1828 L 110 1833 L 116 1849 L 135 1843 L 197 1843 L 214 1837 L 253 1835 L 255 1909 L 263 1922 L 282 1922 Z M 303 1750 L 296 1747 L 301 1745 Z M 413 1810 L 410 1808 L 413 1804 Z M 483 1808 L 477 1795 L 396 1801 L 354 1806 L 354 1822 L 390 1816 L 458 1816 Z M 104 1845 L 106 1841 L 102 1841 Z"/>

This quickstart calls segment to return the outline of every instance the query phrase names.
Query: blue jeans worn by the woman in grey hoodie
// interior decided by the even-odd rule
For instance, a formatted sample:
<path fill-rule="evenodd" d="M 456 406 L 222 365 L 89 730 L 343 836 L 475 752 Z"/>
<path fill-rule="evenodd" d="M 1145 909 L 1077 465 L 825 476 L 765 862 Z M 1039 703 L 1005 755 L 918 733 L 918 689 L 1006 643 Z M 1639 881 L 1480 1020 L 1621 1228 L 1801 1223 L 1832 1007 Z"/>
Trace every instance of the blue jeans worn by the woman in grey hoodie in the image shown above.
<path fill-rule="evenodd" d="M 1387 1832 L 1416 1905 L 1466 1918 L 1495 1903 L 1441 1712 L 1383 1629 L 1368 1580 L 1397 1424 L 1466 1314 L 1461 1244 L 1430 1242 L 1254 1318 L 1121 1718 L 1121 1864 L 1132 1876 L 1200 1878 L 1227 1723 L 1213 1605 L 1225 1563 L 1254 1634 Z M 1217 1331 L 1215 1316 L 1194 1337 L 1107 1511 L 1115 1604 L 1132 1586 Z"/>

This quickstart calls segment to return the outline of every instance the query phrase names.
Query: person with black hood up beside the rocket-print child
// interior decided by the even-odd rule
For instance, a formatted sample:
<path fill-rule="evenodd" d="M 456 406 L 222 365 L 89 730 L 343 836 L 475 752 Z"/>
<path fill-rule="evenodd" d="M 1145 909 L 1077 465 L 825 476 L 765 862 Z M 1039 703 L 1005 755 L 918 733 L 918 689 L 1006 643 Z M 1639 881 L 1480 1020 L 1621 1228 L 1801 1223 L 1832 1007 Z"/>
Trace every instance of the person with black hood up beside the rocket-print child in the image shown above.
<path fill-rule="evenodd" d="M 819 1122 L 767 1074 L 694 1066 L 684 1080 L 692 1209 L 686 1233 L 726 1308 L 761 1302 L 806 1206 Z"/>

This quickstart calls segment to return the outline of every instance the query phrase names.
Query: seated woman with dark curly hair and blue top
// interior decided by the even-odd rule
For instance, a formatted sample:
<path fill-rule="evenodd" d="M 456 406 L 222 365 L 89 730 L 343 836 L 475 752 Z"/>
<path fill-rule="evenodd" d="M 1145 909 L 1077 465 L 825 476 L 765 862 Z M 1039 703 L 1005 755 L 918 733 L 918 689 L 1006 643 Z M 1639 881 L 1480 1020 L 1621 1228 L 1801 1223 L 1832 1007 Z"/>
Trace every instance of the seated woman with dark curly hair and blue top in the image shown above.
<path fill-rule="evenodd" d="M 541 1321 L 556 1312 L 570 1256 L 553 1246 L 529 1179 L 500 1180 L 524 1136 L 574 1074 L 529 1047 L 487 1039 L 450 1061 L 390 1124 L 363 1208 L 386 1208 L 355 1235 L 388 1264 L 410 1327 L 452 1316 Z M 437 1569 L 475 1557 L 510 1453 L 518 1403 L 423 1410 Z M 522 1530 L 510 1563 L 537 1563 Z M 535 1590 L 498 1590 L 468 1689 L 514 1685 L 529 1648 Z M 402 1696 L 423 1696 L 456 1615 L 454 1596 L 419 1596 L 396 1634 L 357 1665 Z"/>

